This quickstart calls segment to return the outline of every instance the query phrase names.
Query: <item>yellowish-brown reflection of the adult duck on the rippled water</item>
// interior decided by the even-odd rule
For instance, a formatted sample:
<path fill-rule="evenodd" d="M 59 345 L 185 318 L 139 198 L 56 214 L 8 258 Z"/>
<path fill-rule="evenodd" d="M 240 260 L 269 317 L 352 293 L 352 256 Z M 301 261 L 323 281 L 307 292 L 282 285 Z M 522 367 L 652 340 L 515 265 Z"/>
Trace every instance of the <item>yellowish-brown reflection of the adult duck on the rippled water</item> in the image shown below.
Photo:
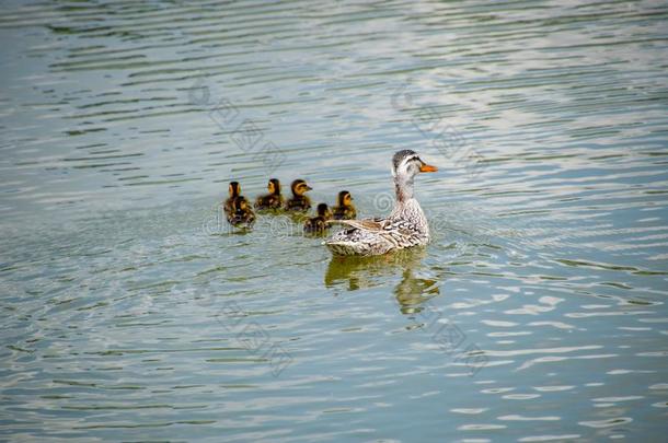
<path fill-rule="evenodd" d="M 421 304 L 440 293 L 438 280 L 415 276 L 425 255 L 419 247 L 375 257 L 335 256 L 327 266 L 325 285 L 355 291 L 387 284 L 392 276 L 401 273 L 394 296 L 402 314 L 415 314 L 422 311 Z"/>

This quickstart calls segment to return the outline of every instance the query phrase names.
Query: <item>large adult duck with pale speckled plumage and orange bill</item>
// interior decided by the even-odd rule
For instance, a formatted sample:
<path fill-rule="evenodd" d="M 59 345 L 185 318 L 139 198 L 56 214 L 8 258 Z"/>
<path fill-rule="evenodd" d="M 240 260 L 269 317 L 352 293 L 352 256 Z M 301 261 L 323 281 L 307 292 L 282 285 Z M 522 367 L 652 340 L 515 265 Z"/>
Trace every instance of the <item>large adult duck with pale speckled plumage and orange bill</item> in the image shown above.
<path fill-rule="evenodd" d="M 365 220 L 330 220 L 347 229 L 332 235 L 325 245 L 334 255 L 380 255 L 405 247 L 426 245 L 429 224 L 413 195 L 413 180 L 418 173 L 436 172 L 415 151 L 399 151 L 392 158 L 392 176 L 396 202 L 387 218 Z"/>

